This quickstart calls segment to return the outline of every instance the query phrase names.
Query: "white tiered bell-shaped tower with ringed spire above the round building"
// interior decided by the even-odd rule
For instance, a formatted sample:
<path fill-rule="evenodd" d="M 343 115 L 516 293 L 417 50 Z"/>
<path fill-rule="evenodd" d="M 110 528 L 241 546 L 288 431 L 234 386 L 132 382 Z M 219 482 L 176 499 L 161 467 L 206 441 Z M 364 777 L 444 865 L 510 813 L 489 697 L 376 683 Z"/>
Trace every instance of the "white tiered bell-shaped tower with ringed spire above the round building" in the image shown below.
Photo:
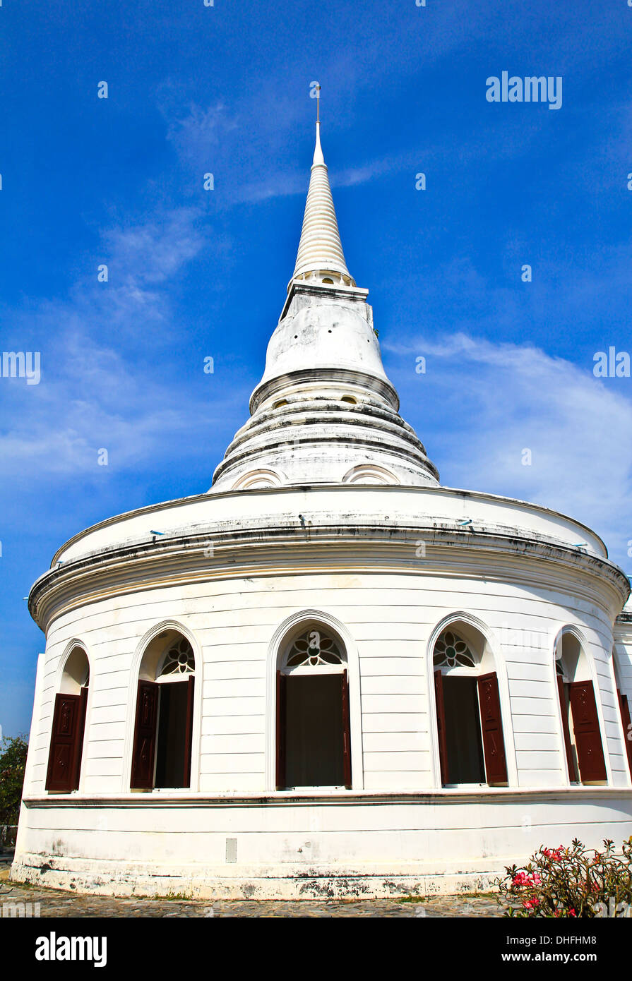
<path fill-rule="evenodd" d="M 213 491 L 438 485 L 423 444 L 397 412 L 367 295 L 344 261 L 318 122 L 288 299 L 251 418 L 217 467 Z"/>

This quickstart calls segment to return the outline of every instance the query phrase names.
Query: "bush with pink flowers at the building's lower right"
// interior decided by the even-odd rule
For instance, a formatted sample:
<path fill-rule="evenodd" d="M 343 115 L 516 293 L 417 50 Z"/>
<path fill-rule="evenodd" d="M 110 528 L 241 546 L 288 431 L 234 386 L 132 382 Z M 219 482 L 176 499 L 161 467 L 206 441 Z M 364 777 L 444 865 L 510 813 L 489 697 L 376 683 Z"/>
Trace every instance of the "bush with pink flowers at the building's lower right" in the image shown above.
<path fill-rule="evenodd" d="M 632 915 L 632 837 L 614 852 L 571 847 L 540 848 L 524 868 L 505 867 L 496 880 L 497 900 L 505 916 Z"/>

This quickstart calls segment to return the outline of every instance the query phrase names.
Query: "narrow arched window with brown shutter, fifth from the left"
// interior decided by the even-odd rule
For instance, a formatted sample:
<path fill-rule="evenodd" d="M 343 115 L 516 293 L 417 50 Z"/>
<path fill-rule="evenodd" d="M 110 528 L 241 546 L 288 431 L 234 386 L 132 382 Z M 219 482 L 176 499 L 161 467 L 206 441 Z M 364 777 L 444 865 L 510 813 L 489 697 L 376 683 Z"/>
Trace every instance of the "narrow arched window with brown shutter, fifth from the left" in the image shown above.
<path fill-rule="evenodd" d="M 586 653 L 565 631 L 555 646 L 555 680 L 562 735 L 571 784 L 607 780 L 595 688 Z"/>

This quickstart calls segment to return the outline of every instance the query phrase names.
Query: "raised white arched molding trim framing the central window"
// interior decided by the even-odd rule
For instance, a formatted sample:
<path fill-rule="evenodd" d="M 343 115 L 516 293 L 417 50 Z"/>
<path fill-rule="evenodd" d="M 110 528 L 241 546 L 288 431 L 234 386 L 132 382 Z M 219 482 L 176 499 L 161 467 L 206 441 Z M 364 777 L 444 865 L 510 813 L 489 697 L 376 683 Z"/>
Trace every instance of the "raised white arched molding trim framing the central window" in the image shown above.
<path fill-rule="evenodd" d="M 323 609 L 301 609 L 292 613 L 275 630 L 266 657 L 266 793 L 276 792 L 277 763 L 277 665 L 285 652 L 289 635 L 302 623 L 317 621 L 338 634 L 346 652 L 349 679 L 349 729 L 351 738 L 352 793 L 364 789 L 364 759 L 362 752 L 362 702 L 360 665 L 355 641 L 347 628 L 332 613 Z M 351 793 L 351 792 L 350 792 Z"/>

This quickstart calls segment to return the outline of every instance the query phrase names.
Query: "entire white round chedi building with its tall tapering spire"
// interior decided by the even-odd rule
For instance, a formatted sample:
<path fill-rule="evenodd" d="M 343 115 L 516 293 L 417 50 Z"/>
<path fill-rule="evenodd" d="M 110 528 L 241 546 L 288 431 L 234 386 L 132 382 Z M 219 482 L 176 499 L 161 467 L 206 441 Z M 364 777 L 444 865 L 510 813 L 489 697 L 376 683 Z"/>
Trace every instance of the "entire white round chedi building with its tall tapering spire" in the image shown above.
<path fill-rule="evenodd" d="M 32 587 L 14 880 L 450 893 L 543 842 L 632 833 L 627 579 L 579 522 L 439 484 L 366 299 L 318 137 L 212 488 L 80 532 Z"/>

